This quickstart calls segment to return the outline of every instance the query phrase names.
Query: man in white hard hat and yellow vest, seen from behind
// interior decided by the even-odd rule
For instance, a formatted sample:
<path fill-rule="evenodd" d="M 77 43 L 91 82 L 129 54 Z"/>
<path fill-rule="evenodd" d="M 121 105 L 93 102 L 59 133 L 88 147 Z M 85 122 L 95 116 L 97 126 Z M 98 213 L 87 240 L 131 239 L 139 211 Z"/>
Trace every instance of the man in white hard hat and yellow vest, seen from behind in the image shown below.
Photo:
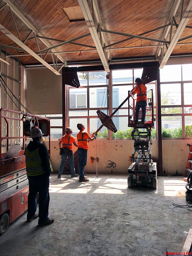
<path fill-rule="evenodd" d="M 39 217 L 38 225 L 52 224 L 49 215 L 49 176 L 52 168 L 47 147 L 41 143 L 44 133 L 39 128 L 31 129 L 31 138 L 25 149 L 26 172 L 29 181 L 27 221 Z M 39 213 L 36 213 L 36 195 L 39 193 Z"/>

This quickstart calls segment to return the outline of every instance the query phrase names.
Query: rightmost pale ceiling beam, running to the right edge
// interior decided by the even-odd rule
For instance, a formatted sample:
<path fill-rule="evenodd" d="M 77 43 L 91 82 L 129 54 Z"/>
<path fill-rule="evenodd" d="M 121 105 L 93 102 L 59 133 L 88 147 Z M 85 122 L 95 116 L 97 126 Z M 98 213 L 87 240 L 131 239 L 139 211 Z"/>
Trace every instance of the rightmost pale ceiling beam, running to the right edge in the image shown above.
<path fill-rule="evenodd" d="M 166 64 L 167 60 L 169 59 L 175 45 L 177 44 L 181 34 L 183 33 L 184 28 L 186 27 L 189 19 L 191 18 L 192 15 L 192 0 L 189 1 L 188 6 L 183 14 L 182 19 L 180 20 L 180 24 L 172 38 L 171 43 L 169 44 L 169 47 L 167 49 L 167 52 L 165 53 L 164 56 L 162 56 L 162 60 L 160 63 L 159 68 L 163 68 L 164 65 Z"/>

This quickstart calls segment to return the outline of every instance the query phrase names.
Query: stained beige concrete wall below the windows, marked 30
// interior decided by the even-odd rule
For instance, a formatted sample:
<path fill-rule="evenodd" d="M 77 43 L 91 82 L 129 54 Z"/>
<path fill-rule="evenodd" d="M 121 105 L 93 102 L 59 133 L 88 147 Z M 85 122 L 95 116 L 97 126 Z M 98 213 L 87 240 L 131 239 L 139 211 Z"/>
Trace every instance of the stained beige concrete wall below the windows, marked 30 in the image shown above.
<path fill-rule="evenodd" d="M 54 172 L 58 172 L 60 165 L 59 141 L 51 141 L 51 162 Z M 99 157 L 98 173 L 127 173 L 131 165 L 133 140 L 94 140 L 89 143 L 87 165 L 85 172 L 96 173 L 96 155 Z M 191 140 L 163 140 L 163 170 L 167 174 L 175 174 L 176 171 L 184 174 L 187 164 L 189 146 Z M 74 146 L 73 152 L 76 151 Z M 93 161 L 91 160 L 91 157 Z M 157 140 L 152 145 L 153 161 L 158 161 Z"/>

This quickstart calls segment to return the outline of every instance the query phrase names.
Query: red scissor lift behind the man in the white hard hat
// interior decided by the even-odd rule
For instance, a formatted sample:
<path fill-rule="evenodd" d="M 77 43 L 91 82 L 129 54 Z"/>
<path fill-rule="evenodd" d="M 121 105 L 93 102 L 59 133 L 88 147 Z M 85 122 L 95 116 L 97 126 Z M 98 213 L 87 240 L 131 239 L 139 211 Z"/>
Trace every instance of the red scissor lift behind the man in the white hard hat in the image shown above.
<path fill-rule="evenodd" d="M 39 127 L 45 137 L 49 136 L 50 154 L 50 120 L 48 118 L 5 108 L 0 109 L 0 235 L 4 234 L 9 224 L 28 208 L 29 190 L 24 151 L 28 145 L 28 143 L 25 144 L 25 140 L 30 136 L 31 125 Z M 16 150 L 16 155 L 15 148 L 11 149 L 12 145 L 17 150 L 19 148 L 18 151 Z"/>

